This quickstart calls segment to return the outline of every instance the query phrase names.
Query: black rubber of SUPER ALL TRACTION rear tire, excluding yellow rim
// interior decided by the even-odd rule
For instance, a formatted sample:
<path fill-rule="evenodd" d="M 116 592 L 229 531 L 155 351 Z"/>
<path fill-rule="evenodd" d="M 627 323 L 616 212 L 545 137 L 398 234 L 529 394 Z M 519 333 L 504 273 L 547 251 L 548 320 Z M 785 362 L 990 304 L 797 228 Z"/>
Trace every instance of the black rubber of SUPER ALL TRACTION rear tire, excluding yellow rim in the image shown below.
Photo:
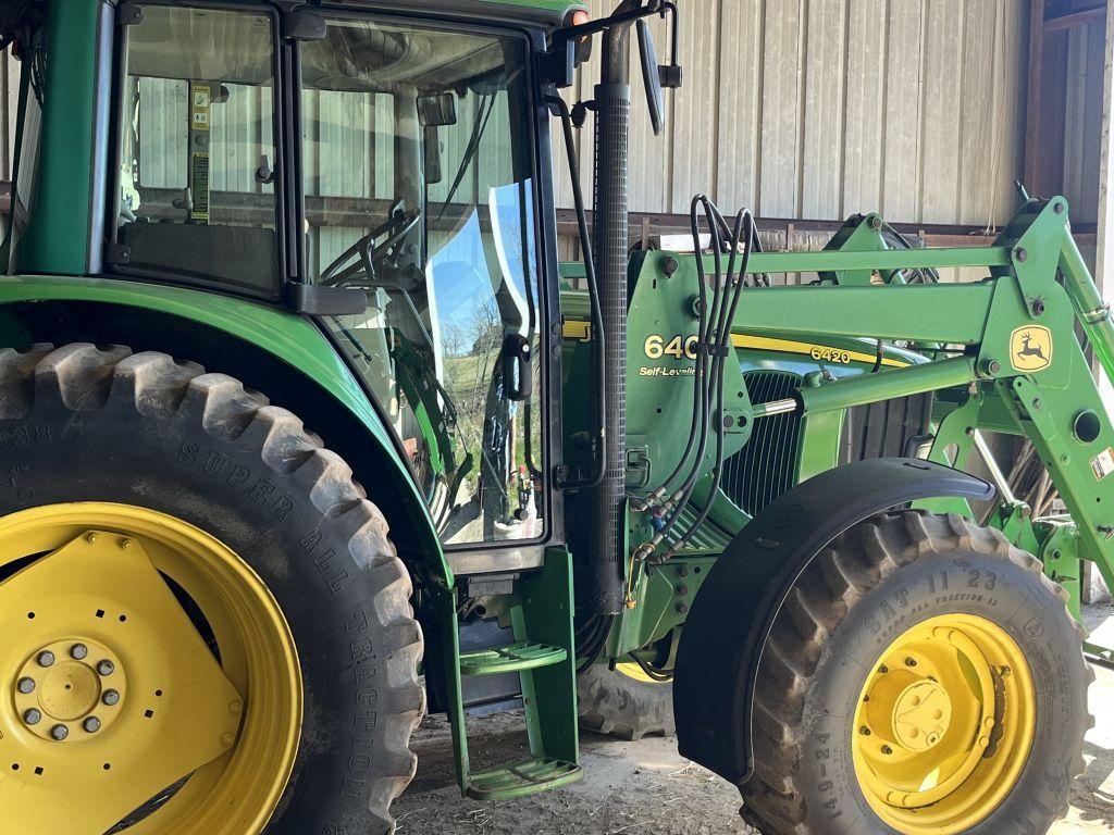
<path fill-rule="evenodd" d="M 228 376 L 86 344 L 0 350 L 0 518 L 72 502 L 158 511 L 215 537 L 273 595 L 304 709 L 293 773 L 263 831 L 393 831 L 391 802 L 417 765 L 422 637 L 387 522 L 336 454 Z M 248 688 L 245 715 L 252 704 Z"/>

